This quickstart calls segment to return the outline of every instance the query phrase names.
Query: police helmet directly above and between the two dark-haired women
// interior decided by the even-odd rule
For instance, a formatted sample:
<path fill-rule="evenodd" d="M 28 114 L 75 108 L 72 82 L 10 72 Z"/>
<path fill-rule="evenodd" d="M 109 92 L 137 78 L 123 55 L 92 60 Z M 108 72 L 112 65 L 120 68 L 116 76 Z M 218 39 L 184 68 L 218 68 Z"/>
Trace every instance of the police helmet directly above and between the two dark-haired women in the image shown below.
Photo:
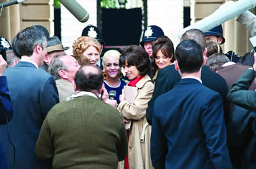
<path fill-rule="evenodd" d="M 164 36 L 163 30 L 158 26 L 148 26 L 144 31 L 140 45 L 143 46 L 145 41 L 152 41 L 159 36 Z"/>

